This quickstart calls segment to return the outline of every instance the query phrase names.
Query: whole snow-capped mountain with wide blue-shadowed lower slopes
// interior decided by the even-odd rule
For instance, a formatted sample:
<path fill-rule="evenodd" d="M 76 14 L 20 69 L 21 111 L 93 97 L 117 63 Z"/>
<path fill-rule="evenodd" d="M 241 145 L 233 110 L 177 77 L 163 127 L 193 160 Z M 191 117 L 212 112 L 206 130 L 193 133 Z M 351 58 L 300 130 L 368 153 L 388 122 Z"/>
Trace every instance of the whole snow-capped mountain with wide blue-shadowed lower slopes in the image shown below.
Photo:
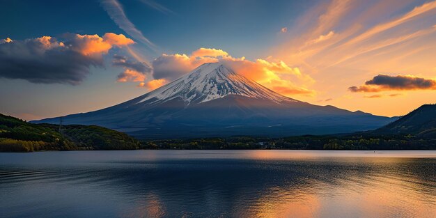
<path fill-rule="evenodd" d="M 33 123 L 101 125 L 141 139 L 285 137 L 373 130 L 393 118 L 318 106 L 275 93 L 221 63 L 205 63 L 106 109 Z"/>

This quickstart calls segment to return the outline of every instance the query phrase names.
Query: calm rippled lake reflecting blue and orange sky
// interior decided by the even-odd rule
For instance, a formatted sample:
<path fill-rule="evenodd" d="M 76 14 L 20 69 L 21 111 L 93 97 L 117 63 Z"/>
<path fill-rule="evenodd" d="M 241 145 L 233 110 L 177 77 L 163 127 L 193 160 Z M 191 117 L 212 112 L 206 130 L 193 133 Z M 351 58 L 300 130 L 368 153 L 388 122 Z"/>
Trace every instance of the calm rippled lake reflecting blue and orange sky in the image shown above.
<path fill-rule="evenodd" d="M 436 217 L 436 151 L 0 153 L 0 217 Z"/>

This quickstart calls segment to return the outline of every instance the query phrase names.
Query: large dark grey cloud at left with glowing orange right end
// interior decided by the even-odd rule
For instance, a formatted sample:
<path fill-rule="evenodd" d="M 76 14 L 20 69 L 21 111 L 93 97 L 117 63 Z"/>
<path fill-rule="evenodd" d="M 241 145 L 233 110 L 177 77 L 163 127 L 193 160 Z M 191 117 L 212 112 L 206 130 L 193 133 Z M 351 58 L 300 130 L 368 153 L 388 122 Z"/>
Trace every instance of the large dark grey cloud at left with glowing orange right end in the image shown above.
<path fill-rule="evenodd" d="M 0 43 L 0 77 L 39 84 L 80 84 L 92 66 L 102 67 L 102 55 L 112 47 L 134 43 L 123 34 L 66 34 L 60 42 L 50 36 Z"/>

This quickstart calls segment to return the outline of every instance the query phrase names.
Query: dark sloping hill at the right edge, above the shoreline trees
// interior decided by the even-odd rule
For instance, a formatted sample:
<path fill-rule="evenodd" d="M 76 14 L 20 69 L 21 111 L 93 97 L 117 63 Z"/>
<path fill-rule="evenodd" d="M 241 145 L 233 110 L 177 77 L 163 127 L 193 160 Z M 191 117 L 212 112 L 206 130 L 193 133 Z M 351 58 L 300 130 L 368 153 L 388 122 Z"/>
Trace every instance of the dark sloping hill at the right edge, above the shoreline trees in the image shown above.
<path fill-rule="evenodd" d="M 412 134 L 436 138 L 436 104 L 424 104 L 400 119 L 373 131 L 374 134 Z"/>

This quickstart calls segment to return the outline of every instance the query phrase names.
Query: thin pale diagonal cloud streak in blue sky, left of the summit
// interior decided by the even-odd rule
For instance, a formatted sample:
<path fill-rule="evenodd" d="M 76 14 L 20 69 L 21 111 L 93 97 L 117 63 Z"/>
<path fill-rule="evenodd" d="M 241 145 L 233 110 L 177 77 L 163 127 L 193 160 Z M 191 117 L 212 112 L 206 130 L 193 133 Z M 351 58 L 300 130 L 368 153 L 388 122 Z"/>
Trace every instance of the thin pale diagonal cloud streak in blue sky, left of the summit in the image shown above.
<path fill-rule="evenodd" d="M 153 44 L 148 38 L 143 36 L 142 32 L 130 22 L 129 18 L 125 15 L 123 6 L 117 0 L 102 0 L 100 1 L 102 7 L 108 13 L 109 17 L 127 34 L 132 36 L 132 38 L 142 42 L 147 45 L 150 49 L 156 50 L 156 45 Z"/>

